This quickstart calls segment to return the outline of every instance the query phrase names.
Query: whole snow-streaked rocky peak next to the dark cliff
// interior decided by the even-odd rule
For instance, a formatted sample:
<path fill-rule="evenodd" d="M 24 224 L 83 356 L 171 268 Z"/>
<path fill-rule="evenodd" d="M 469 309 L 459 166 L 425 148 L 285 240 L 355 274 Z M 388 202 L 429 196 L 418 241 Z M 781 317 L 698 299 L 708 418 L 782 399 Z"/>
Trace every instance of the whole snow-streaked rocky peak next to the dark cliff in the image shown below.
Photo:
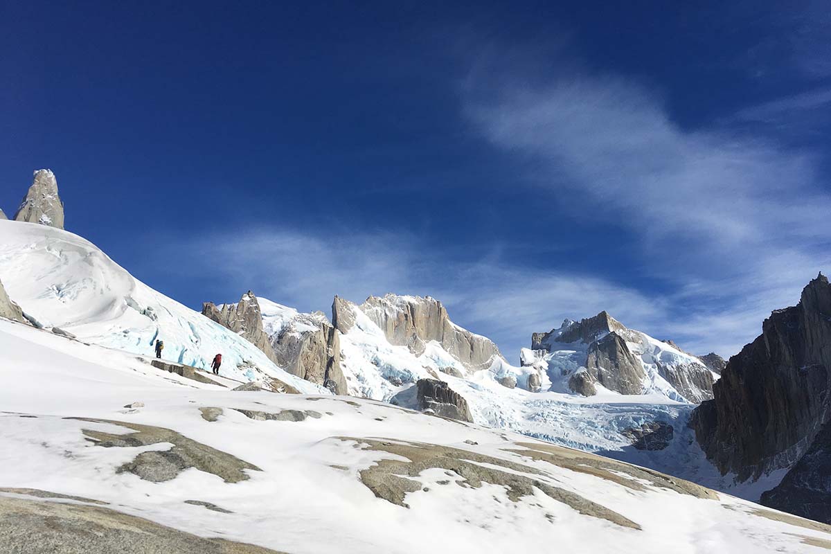
<path fill-rule="evenodd" d="M 558 329 L 531 336 L 532 350 L 524 349 L 523 365 L 548 366 L 553 390 L 597 394 L 598 386 L 623 395 L 640 395 L 656 381 L 673 400 L 701 402 L 712 398 L 713 375 L 696 356 L 673 341 L 656 341 L 628 329 L 601 311 L 582 321 L 563 321 Z M 659 379 L 660 378 L 660 379 Z"/>

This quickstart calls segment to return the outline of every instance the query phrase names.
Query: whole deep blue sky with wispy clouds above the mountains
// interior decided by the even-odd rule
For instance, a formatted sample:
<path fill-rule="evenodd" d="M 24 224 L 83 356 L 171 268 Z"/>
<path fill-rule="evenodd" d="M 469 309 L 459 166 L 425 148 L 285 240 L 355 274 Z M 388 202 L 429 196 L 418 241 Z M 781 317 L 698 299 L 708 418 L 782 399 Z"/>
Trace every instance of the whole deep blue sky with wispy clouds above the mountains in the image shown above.
<path fill-rule="evenodd" d="M 199 309 L 429 294 L 516 360 L 607 309 L 731 355 L 831 271 L 824 2 L 0 6 L 0 207 Z"/>

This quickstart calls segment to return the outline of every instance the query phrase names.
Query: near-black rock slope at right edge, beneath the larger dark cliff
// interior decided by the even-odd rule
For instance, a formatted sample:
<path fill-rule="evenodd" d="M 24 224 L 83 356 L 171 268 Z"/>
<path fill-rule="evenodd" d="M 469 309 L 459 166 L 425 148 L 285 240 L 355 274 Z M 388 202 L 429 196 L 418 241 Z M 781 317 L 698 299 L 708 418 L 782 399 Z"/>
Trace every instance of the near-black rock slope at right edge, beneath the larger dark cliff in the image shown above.
<path fill-rule="evenodd" d="M 761 503 L 831 523 L 831 424 L 824 425 L 779 486 L 762 494 Z"/>

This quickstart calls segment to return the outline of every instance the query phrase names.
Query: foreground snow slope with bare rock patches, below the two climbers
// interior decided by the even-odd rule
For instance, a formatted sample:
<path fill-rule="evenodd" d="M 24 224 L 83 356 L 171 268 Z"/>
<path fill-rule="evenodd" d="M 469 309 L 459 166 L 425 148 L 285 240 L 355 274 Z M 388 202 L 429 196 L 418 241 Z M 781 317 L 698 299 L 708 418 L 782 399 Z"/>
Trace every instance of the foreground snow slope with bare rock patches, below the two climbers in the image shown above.
<path fill-rule="evenodd" d="M 144 407 L 123 407 L 135 401 Z M 184 383 L 135 356 L 8 321 L 0 321 L 0 406 L 0 496 L 23 498 L 20 489 L 32 488 L 89 498 L 199 536 L 290 554 L 553 545 L 587 553 L 808 553 L 831 544 L 828 526 L 518 434 L 372 400 Z M 223 412 L 209 421 L 205 407 Z M 319 417 L 261 421 L 236 409 Z M 160 482 L 118 471 L 142 453 L 177 448 L 90 440 L 133 433 L 137 424 L 172 429 L 256 469 L 243 469 L 247 478 L 236 483 L 195 467 Z M 390 488 L 377 488 L 379 472 Z M 395 503 L 399 486 L 410 492 Z"/>

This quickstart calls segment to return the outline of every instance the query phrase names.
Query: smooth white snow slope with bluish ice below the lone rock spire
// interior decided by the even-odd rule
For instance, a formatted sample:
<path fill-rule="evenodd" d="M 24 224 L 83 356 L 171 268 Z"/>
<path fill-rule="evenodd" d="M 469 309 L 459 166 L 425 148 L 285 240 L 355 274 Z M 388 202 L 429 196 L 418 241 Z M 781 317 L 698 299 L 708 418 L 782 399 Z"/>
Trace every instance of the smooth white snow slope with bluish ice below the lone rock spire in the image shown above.
<path fill-rule="evenodd" d="M 223 354 L 223 375 L 258 380 L 271 375 L 308 393 L 321 387 L 274 365 L 234 332 L 139 282 L 95 245 L 73 233 L 34 223 L 0 221 L 0 279 L 42 326 L 81 341 L 207 368 Z"/>

